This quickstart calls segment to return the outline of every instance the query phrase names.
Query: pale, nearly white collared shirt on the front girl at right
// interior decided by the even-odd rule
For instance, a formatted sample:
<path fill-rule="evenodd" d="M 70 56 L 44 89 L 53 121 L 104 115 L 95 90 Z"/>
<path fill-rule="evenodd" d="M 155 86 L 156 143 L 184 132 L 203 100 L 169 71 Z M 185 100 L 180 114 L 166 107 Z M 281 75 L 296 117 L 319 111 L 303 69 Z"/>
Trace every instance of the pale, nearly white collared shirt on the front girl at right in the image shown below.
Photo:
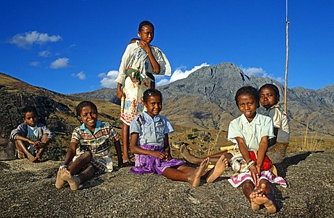
<path fill-rule="evenodd" d="M 237 144 L 236 137 L 244 139 L 248 150 L 259 150 L 262 137 L 268 139 L 275 137 L 273 134 L 273 120 L 262 114 L 256 114 L 252 122 L 248 122 L 246 116 L 242 114 L 231 121 L 228 127 L 228 140 Z"/>

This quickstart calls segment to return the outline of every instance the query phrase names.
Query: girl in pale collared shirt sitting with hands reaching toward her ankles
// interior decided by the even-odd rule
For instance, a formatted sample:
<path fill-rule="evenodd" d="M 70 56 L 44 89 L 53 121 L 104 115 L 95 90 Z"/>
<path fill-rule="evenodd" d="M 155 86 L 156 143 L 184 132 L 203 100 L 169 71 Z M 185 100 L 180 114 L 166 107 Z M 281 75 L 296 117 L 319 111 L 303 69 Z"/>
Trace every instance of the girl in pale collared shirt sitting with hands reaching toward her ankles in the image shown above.
<path fill-rule="evenodd" d="M 271 161 L 266 156 L 268 139 L 273 135 L 273 121 L 268 116 L 257 114 L 260 107 L 256 88 L 244 86 L 239 88 L 235 101 L 242 115 L 231 121 L 228 127 L 228 140 L 236 143 L 247 164 L 248 171 L 228 180 L 233 187 L 241 185 L 245 196 L 250 201 L 253 210 L 259 210 L 260 205 L 267 212 L 276 212 L 276 203 L 271 183 L 286 187 L 283 178 L 271 173 Z"/>

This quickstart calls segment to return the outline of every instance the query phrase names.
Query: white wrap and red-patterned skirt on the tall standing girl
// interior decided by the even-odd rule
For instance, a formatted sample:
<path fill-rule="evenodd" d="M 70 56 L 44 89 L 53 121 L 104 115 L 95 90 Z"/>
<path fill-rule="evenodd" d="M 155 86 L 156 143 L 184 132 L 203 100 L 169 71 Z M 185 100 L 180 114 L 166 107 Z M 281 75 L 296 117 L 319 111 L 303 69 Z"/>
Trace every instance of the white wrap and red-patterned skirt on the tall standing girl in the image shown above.
<path fill-rule="evenodd" d="M 171 75 L 171 68 L 165 54 L 158 47 L 151 46 L 152 54 L 160 65 L 159 75 Z M 128 70 L 133 70 L 131 76 Z M 123 85 L 125 93 L 124 109 L 121 109 L 120 120 L 130 125 L 137 114 L 143 111 L 143 92 L 150 88 L 150 82 L 154 70 L 148 59 L 148 54 L 137 43 L 131 43 L 125 49 L 120 63 L 119 74 L 116 82 Z M 139 81 L 132 81 L 139 74 Z"/>

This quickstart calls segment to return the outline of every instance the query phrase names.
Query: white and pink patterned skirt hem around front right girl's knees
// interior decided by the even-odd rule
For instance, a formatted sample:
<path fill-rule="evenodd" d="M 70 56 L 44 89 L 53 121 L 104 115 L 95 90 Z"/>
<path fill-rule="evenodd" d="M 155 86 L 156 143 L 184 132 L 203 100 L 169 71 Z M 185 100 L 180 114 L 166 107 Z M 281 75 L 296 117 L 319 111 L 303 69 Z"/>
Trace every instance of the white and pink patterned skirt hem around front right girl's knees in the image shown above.
<path fill-rule="evenodd" d="M 268 180 L 271 183 L 276 183 L 278 185 L 281 185 L 282 187 L 287 187 L 287 182 L 282 177 L 275 176 L 271 172 L 271 170 L 269 170 L 269 171 L 262 171 L 261 172 L 261 176 L 260 176 L 260 180 L 262 180 L 262 179 Z M 233 187 L 239 187 L 239 185 L 241 185 L 246 180 L 250 180 L 250 181 L 252 181 L 254 183 L 254 180 L 253 180 L 252 175 L 250 173 L 239 173 L 239 174 L 237 174 L 235 176 L 231 176 L 228 179 L 228 182 L 230 182 L 230 184 Z"/>

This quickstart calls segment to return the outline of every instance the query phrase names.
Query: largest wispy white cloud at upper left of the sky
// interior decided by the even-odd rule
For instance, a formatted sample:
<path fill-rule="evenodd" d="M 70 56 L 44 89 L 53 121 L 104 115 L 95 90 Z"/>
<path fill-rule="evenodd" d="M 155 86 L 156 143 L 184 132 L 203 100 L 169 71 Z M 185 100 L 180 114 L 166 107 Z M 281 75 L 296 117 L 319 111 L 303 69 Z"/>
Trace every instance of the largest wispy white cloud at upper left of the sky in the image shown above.
<path fill-rule="evenodd" d="M 33 44 L 42 45 L 47 42 L 57 42 L 62 40 L 59 35 L 49 36 L 47 33 L 38 33 L 38 31 L 31 31 L 26 33 L 19 33 L 10 38 L 9 43 L 17 45 L 24 49 L 29 49 Z"/>

